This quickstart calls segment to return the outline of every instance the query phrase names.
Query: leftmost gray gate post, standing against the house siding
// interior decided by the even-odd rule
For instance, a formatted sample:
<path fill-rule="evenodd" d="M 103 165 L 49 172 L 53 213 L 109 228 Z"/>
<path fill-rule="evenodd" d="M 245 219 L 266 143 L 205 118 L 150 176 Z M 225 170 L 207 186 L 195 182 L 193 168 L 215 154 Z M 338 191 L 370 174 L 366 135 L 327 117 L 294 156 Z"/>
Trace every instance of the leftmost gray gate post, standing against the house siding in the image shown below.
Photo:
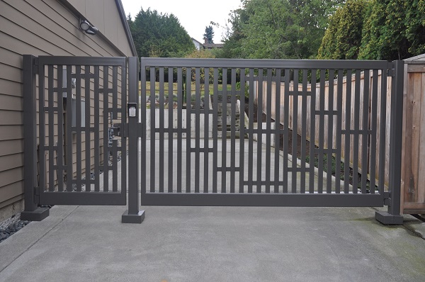
<path fill-rule="evenodd" d="M 40 221 L 49 215 L 48 208 L 38 208 L 38 198 L 35 196 L 37 183 L 37 124 L 35 75 L 36 58 L 23 55 L 23 191 L 24 210 L 21 220 Z"/>

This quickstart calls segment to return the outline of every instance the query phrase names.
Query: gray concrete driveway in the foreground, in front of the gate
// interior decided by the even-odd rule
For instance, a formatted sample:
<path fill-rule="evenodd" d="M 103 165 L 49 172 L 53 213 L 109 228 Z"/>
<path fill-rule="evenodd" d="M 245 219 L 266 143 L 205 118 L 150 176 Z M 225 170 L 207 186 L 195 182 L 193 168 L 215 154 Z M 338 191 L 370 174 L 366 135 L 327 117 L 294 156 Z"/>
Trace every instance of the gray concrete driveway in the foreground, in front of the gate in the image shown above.
<path fill-rule="evenodd" d="M 59 206 L 0 244 L 0 281 L 425 281 L 425 225 L 373 208 Z"/>

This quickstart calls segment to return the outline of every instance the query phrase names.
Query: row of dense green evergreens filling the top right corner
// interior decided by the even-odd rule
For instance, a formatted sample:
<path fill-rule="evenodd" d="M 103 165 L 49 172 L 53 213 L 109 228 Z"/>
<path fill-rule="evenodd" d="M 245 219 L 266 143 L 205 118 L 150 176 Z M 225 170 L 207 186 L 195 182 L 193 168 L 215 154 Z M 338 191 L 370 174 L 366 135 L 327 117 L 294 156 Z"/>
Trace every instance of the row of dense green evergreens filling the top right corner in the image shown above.
<path fill-rule="evenodd" d="M 402 60 L 424 52 L 425 0 L 350 0 L 330 18 L 318 57 Z"/>

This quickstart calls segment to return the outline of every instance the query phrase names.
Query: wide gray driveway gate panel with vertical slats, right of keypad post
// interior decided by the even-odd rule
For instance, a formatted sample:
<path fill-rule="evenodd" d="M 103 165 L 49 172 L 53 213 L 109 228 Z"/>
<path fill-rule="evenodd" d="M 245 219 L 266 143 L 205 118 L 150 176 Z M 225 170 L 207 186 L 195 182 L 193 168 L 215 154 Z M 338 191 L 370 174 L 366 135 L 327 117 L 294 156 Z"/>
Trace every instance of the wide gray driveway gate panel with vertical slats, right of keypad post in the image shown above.
<path fill-rule="evenodd" d="M 382 206 L 389 69 L 143 58 L 142 205 Z"/>

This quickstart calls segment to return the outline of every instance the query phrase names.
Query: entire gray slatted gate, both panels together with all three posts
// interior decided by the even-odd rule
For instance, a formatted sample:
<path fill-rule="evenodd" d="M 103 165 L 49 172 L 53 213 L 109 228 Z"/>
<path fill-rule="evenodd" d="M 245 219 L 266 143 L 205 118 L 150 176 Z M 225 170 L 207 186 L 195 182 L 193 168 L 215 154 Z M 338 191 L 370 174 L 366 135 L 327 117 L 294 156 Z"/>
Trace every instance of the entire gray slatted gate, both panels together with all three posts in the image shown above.
<path fill-rule="evenodd" d="M 37 59 L 28 57 L 28 60 Z M 35 93 L 34 79 L 30 79 L 35 74 L 31 73 L 27 74 L 26 93 L 28 89 L 34 89 Z M 50 78 L 56 73 L 56 78 Z M 33 205 L 26 207 L 24 215 L 42 213 L 40 208 L 35 212 L 36 205 L 46 203 L 125 205 L 128 173 L 129 209 L 123 215 L 123 222 L 142 222 L 144 213 L 139 210 L 140 203 L 388 205 L 388 213 L 377 213 L 376 218 L 385 223 L 402 220 L 399 132 L 403 62 L 142 58 L 139 68 L 135 57 L 128 61 L 39 57 L 38 76 L 40 89 L 45 88 L 43 81 L 48 81 L 47 100 L 45 91 L 39 91 L 39 101 L 46 100 L 40 103 L 40 124 L 45 122 L 43 116 L 55 120 L 57 115 L 54 124 L 63 124 L 65 133 L 72 131 L 77 145 L 75 151 L 72 146 L 66 146 L 72 143 L 73 135 L 64 134 L 61 127 L 55 132 L 54 125 L 46 123 L 48 135 L 39 130 L 39 136 L 45 136 L 47 141 L 40 138 L 39 179 L 35 181 L 37 171 L 33 171 L 30 186 L 35 187 Z M 388 97 L 387 77 L 392 79 Z M 62 119 L 65 108 L 57 103 L 61 99 L 55 100 L 55 96 L 71 93 L 73 78 L 77 79 L 76 111 L 67 103 Z M 81 81 L 84 90 L 78 90 L 83 88 Z M 89 95 L 93 101 L 79 106 L 81 98 L 87 101 Z M 100 98 L 102 102 L 96 102 Z M 31 99 L 34 103 L 35 96 Z M 387 100 L 392 101 L 389 112 Z M 81 108 L 85 108 L 85 124 L 80 125 L 84 120 L 80 118 Z M 30 106 L 26 110 L 30 111 Z M 34 116 L 34 109 L 32 112 Z M 71 112 L 76 115 L 75 125 L 70 121 L 74 118 L 69 117 Z M 261 123 L 263 112 L 267 118 Z M 388 117 L 391 117 L 391 132 L 387 129 Z M 35 128 L 34 121 L 28 118 L 30 126 L 26 124 L 26 128 Z M 31 134 L 35 140 L 35 131 Z M 298 138 L 302 140 L 300 148 L 290 147 L 289 136 L 294 144 Z M 85 142 L 86 164 L 81 167 L 79 143 L 92 137 L 95 143 L 103 140 L 103 157 L 96 158 L 94 151 L 99 150 L 98 143 L 93 148 L 90 142 Z M 307 139 L 311 140 L 310 147 L 305 142 Z M 385 159 L 388 142 L 389 162 Z M 26 146 L 27 149 L 33 152 L 28 164 L 34 164 L 34 146 Z M 76 155 L 74 166 L 72 158 L 67 157 L 72 154 Z M 50 156 L 55 156 L 55 160 Z M 49 167 L 47 181 L 44 164 Z M 81 169 L 84 174 L 76 173 Z M 100 170 L 103 176 L 99 176 Z M 350 184 L 347 180 L 350 174 L 356 176 L 358 172 L 363 174 L 353 177 Z M 69 177 L 73 173 L 75 176 Z M 65 180 L 64 176 L 67 176 Z M 103 190 L 99 185 L 101 177 Z M 108 187 L 108 177 L 112 179 L 112 188 Z"/>

